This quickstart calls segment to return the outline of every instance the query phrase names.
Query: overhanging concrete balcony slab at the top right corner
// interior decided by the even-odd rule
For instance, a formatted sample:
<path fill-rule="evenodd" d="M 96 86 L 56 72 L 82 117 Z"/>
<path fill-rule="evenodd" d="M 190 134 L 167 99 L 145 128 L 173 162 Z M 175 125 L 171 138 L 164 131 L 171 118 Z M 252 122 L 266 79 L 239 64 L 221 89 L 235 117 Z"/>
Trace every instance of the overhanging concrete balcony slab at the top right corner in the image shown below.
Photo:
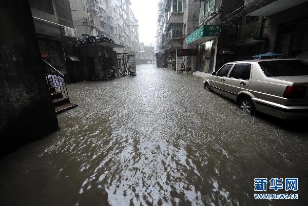
<path fill-rule="evenodd" d="M 307 0 L 277 0 L 265 6 L 261 4 L 260 8 L 248 13 L 247 16 L 270 16 L 305 2 L 307 2 Z"/>

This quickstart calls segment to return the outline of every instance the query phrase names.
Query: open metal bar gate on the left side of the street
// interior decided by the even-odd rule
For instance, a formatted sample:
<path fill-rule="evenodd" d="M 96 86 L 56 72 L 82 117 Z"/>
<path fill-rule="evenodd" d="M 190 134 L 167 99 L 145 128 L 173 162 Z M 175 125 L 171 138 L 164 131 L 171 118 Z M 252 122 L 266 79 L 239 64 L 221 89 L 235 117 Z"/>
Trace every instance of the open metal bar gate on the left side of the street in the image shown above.
<path fill-rule="evenodd" d="M 136 76 L 136 58 L 133 51 L 128 53 L 118 53 L 118 72 L 119 76 Z"/>

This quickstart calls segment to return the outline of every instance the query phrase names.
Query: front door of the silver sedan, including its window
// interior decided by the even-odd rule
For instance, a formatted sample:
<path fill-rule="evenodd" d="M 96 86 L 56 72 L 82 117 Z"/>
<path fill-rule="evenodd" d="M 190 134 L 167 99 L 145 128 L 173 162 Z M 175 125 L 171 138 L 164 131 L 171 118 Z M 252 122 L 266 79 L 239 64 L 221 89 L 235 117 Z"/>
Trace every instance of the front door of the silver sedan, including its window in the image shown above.
<path fill-rule="evenodd" d="M 218 92 L 221 95 L 225 94 L 225 80 L 228 76 L 228 73 L 230 69 L 233 67 L 233 64 L 227 64 L 224 65 L 216 74 L 216 76 L 213 77 L 211 82 L 211 89 Z"/>

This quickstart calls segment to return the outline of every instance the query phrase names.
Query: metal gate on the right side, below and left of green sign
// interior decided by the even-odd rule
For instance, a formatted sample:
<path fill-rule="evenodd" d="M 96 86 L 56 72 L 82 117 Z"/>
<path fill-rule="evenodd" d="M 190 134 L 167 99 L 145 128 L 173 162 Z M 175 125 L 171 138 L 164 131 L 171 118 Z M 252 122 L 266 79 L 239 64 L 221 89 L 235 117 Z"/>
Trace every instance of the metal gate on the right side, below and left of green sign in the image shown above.
<path fill-rule="evenodd" d="M 197 70 L 197 50 L 196 49 L 178 49 L 177 50 L 177 74 L 183 72 L 196 72 Z"/>

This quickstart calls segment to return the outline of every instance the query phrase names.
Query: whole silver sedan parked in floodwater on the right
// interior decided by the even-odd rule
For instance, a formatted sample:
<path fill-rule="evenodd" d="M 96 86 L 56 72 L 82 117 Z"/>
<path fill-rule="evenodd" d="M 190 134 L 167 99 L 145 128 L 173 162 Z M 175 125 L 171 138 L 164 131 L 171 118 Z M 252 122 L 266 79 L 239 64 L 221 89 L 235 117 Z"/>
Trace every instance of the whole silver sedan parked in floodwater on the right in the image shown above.
<path fill-rule="evenodd" d="M 285 119 L 308 117 L 308 66 L 295 59 L 236 61 L 205 79 L 204 88 L 256 111 Z"/>

